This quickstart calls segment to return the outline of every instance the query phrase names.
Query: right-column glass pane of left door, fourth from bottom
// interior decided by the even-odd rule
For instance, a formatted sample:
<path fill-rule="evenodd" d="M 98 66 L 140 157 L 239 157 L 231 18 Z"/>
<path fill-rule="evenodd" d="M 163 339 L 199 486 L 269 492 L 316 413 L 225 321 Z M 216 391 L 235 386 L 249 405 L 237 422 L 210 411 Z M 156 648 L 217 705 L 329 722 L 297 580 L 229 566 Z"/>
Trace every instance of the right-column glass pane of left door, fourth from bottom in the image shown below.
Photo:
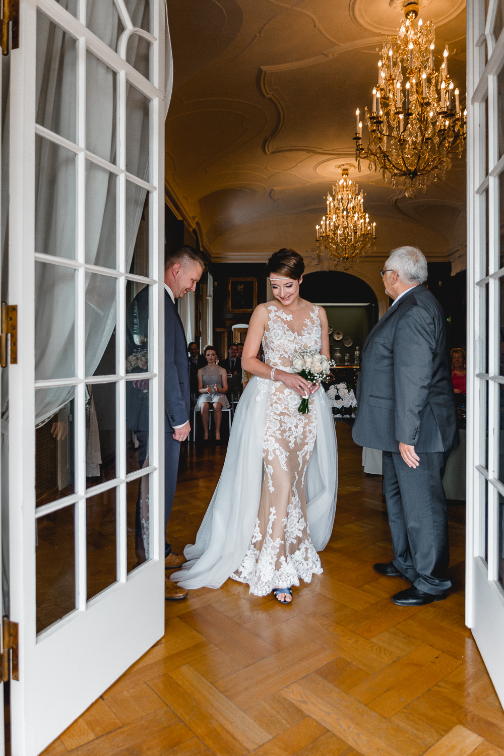
<path fill-rule="evenodd" d="M 136 276 L 150 274 L 151 194 L 126 181 L 126 270 Z"/>

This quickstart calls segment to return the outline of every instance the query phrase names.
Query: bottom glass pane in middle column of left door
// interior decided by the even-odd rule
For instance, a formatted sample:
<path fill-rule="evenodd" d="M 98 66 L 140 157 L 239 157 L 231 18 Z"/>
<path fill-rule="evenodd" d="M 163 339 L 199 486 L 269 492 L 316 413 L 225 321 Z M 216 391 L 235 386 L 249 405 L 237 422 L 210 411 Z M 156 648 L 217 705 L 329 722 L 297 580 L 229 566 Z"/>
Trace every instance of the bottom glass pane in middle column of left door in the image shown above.
<path fill-rule="evenodd" d="M 86 500 L 88 601 L 117 580 L 116 488 Z"/>

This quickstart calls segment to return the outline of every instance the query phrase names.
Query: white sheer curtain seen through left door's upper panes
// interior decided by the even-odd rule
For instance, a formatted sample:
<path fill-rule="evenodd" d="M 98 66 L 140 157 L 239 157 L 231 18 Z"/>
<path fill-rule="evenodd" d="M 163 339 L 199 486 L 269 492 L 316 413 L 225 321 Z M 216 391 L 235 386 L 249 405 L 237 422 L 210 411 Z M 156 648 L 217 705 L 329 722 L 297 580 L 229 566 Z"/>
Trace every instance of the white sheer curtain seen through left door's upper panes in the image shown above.
<path fill-rule="evenodd" d="M 65 5 L 65 2 L 60 2 Z M 125 0 L 134 26 L 142 26 L 146 0 Z M 122 26 L 110 0 L 88 0 L 88 28 L 116 49 Z M 144 27 L 145 28 L 145 27 Z M 166 29 L 168 31 L 168 29 Z M 75 140 L 76 46 L 70 37 L 39 14 L 37 29 L 37 122 Z M 128 63 L 148 76 L 149 45 L 134 37 Z M 86 146 L 116 163 L 115 74 L 91 54 L 86 65 Z M 172 88 L 172 52 L 166 39 L 166 94 Z M 128 87 L 126 163 L 128 172 L 149 180 L 149 112 L 146 99 Z M 168 107 L 168 102 L 166 103 Z M 37 138 L 36 251 L 74 257 L 76 165 L 69 150 Z M 146 190 L 126 184 L 126 270 L 131 265 Z M 86 262 L 116 267 L 116 177 L 88 161 L 86 166 Z M 75 375 L 75 284 L 70 268 L 36 265 L 36 378 Z M 85 372 L 93 375 L 116 325 L 116 280 L 98 274 L 86 277 Z M 73 387 L 36 392 L 36 424 L 52 417 L 73 397 Z"/>

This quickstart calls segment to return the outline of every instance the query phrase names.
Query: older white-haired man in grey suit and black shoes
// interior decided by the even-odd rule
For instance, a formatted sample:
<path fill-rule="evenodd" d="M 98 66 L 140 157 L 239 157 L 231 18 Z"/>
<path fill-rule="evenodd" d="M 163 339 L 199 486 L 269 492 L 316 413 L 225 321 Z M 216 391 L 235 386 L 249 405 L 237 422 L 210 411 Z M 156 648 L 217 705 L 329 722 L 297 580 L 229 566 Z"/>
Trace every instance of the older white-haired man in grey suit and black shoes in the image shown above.
<path fill-rule="evenodd" d="M 451 585 L 441 481 L 458 432 L 447 321 L 424 285 L 419 249 L 394 249 L 382 278 L 394 304 L 363 347 L 352 435 L 360 446 L 382 449 L 394 559 L 376 564 L 376 572 L 413 583 L 392 596 L 394 604 L 424 606 L 446 598 Z"/>

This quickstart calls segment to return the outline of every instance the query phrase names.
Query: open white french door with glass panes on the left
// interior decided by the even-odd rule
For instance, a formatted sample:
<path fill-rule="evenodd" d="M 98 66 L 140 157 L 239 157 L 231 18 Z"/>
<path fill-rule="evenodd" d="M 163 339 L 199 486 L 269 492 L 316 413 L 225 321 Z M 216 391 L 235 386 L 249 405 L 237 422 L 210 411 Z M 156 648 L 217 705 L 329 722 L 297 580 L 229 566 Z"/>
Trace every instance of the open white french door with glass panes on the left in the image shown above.
<path fill-rule="evenodd" d="M 42 751 L 163 634 L 164 40 L 164 0 L 20 2 L 13 756 Z"/>

